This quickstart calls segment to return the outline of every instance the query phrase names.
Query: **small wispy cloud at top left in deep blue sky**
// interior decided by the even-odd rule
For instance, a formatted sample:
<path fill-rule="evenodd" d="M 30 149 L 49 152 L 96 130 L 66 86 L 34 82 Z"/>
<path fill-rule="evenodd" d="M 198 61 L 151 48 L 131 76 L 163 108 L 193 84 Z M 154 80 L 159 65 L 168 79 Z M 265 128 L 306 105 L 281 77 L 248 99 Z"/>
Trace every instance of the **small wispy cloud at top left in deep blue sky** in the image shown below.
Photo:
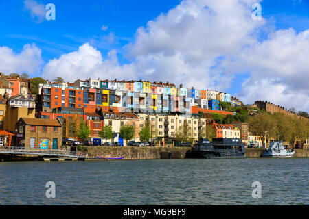
<path fill-rule="evenodd" d="M 37 3 L 34 0 L 25 0 L 23 3 L 25 10 L 30 12 L 30 15 L 34 21 L 40 23 L 45 20 L 45 5 Z"/>

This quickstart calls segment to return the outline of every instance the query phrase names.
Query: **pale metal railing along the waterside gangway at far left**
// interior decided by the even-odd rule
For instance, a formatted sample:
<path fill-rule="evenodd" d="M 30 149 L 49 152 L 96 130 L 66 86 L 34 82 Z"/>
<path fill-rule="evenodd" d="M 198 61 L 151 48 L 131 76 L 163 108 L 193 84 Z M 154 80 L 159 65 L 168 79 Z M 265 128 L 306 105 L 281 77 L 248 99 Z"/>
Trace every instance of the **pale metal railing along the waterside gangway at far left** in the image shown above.
<path fill-rule="evenodd" d="M 61 157 L 84 157 L 81 152 L 68 150 L 49 150 L 49 149 L 25 149 L 18 146 L 0 146 L 0 153 L 6 154 L 27 154 L 27 155 L 49 155 Z"/>

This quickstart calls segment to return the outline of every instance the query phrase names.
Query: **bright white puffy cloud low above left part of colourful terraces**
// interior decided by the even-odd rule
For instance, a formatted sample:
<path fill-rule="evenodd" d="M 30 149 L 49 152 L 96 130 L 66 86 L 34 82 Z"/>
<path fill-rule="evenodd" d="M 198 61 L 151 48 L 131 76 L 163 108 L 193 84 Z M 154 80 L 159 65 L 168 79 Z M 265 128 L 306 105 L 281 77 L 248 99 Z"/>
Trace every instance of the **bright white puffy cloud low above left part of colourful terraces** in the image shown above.
<path fill-rule="evenodd" d="M 89 77 L 132 79 L 136 72 L 133 64 L 119 64 L 117 51 L 109 51 L 108 58 L 104 60 L 100 51 L 91 47 L 89 43 L 85 43 L 78 48 L 78 51 L 50 60 L 43 68 L 42 77 L 54 79 L 59 76 L 65 81 L 88 79 Z"/>

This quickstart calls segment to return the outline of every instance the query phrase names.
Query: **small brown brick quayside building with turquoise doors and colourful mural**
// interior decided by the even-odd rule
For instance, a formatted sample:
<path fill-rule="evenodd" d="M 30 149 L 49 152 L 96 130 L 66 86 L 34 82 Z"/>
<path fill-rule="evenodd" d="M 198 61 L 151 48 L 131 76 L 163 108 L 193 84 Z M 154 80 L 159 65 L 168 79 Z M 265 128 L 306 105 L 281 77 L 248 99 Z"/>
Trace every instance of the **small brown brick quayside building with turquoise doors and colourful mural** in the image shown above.
<path fill-rule="evenodd" d="M 60 149 L 62 124 L 59 120 L 20 118 L 16 123 L 16 145 L 25 149 Z"/>

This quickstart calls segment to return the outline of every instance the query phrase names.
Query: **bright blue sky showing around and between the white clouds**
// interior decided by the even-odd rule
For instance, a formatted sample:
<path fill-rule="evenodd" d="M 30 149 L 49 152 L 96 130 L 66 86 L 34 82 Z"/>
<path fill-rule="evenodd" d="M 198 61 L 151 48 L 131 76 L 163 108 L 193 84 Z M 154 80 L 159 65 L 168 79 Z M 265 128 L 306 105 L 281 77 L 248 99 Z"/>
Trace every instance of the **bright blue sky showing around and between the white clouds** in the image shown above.
<path fill-rule="evenodd" d="M 36 47 L 41 49 L 43 64 L 41 70 L 30 73 L 32 77 L 40 76 L 49 60 L 78 51 L 78 48 L 87 42 L 100 51 L 103 59 L 108 59 L 108 52 L 115 49 L 119 65 L 130 64 L 136 57 L 133 55 L 133 60 L 126 58 L 126 46 L 135 44 L 139 35 L 137 29 L 147 27 L 148 21 L 156 21 L 160 14 L 167 14 L 181 3 L 179 0 L 27 1 L 39 5 L 54 3 L 56 21 L 39 21 L 38 16 L 32 16 L 25 7 L 24 0 L 0 0 L 0 47 L 8 47 L 15 54 L 19 54 L 25 44 L 36 44 Z M 262 17 L 266 20 L 264 28 L 272 28 L 273 32 L 293 28 L 296 35 L 309 29 L 309 0 L 264 0 L 261 5 Z M 102 29 L 103 26 L 106 29 Z M 260 29 L 260 42 L 268 40 L 268 31 L 267 28 L 266 33 L 264 29 Z M 132 58 L 132 55 L 130 57 Z M 225 54 L 222 54 L 222 57 L 225 57 Z M 223 87 L 219 87 L 231 94 L 244 93 L 243 83 L 253 79 L 252 74 L 253 71 L 237 69 L 231 77 L 233 79 L 226 82 L 229 84 L 224 87 L 225 83 L 222 83 Z M 146 79 L 152 80 L 152 77 Z M 286 90 L 287 87 L 284 92 Z M 309 104 L 305 109 L 306 107 L 309 108 Z"/>

